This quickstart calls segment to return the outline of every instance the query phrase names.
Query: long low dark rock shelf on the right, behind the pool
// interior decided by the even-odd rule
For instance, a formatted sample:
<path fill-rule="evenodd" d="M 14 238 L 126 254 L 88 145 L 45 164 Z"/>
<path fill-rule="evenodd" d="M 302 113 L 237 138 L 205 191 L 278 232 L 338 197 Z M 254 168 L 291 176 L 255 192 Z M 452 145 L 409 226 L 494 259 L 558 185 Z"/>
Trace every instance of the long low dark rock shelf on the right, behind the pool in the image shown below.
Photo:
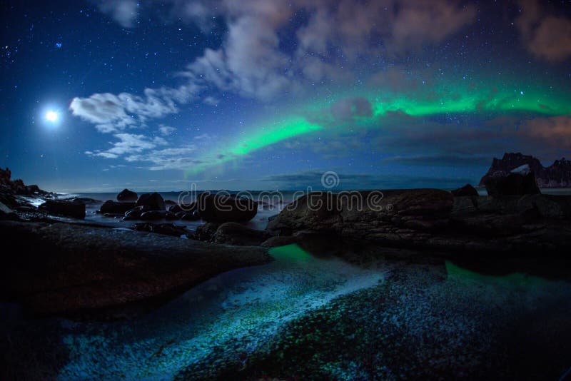
<path fill-rule="evenodd" d="M 366 199 L 368 193 L 361 193 Z M 300 231 L 347 240 L 444 253 L 561 255 L 571 248 L 571 197 L 524 195 L 455 197 L 438 190 L 385 191 L 381 210 L 338 207 L 318 195 L 321 208 L 300 198 L 268 223 L 273 235 Z"/>

